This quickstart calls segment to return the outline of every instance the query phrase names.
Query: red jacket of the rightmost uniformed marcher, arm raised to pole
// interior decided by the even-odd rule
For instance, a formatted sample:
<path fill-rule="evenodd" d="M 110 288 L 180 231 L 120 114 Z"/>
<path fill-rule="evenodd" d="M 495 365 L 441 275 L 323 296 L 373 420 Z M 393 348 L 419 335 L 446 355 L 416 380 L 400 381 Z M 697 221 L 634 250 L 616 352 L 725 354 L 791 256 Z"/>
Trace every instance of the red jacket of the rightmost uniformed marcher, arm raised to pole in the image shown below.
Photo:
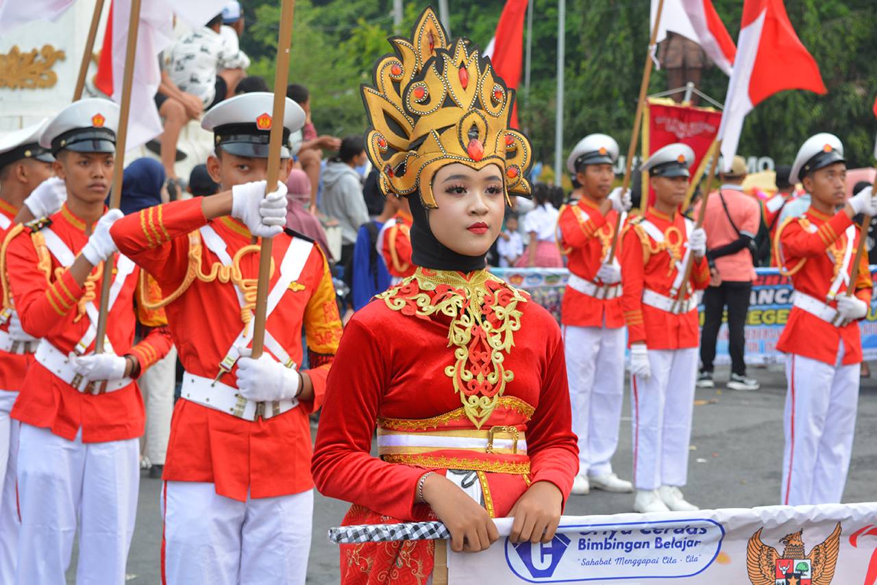
<path fill-rule="evenodd" d="M 846 217 L 843 210 L 829 217 L 812 207 L 801 218 L 788 218 L 781 225 L 777 232 L 780 257 L 784 269 L 792 273 L 795 290 L 829 303 L 832 307 L 837 306 L 836 301 L 832 299 L 829 302 L 826 296 L 831 282 L 843 266 L 847 246 L 851 247 L 852 257 L 846 273 L 852 276 L 852 258 L 855 257 L 861 237 L 857 228 L 852 242 L 849 241 L 845 232 L 850 225 L 852 220 Z M 867 254 L 862 254 L 854 294 L 870 304 L 872 288 Z M 847 285 L 841 282 L 838 296 L 847 290 Z M 833 365 L 841 341 L 844 342 L 841 362 L 845 365 L 859 363 L 862 360 L 862 341 L 858 322 L 836 327 L 806 310 L 792 307 L 776 348 L 781 352 L 796 353 Z"/>

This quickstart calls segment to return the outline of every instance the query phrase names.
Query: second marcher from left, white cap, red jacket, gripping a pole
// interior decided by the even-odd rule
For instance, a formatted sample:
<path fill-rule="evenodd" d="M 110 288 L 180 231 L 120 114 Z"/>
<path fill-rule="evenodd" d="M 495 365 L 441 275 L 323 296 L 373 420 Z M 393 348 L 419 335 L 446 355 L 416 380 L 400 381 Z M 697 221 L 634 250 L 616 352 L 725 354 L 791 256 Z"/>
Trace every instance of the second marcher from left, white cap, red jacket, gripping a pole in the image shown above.
<path fill-rule="evenodd" d="M 48 218 L 16 225 L 3 244 L 4 307 L 40 338 L 11 413 L 21 424 L 17 583 L 64 582 L 77 525 L 77 581 L 125 582 L 144 429 L 136 380 L 171 341 L 160 326 L 134 344 L 139 269 L 115 254 L 109 231 L 122 212 L 103 203 L 117 125 L 118 105 L 104 99 L 80 100 L 53 118 L 39 145 L 51 149 L 67 201 Z M 57 196 L 25 205 L 41 214 L 50 200 Z M 105 352 L 96 354 L 103 278 L 112 282 Z"/>

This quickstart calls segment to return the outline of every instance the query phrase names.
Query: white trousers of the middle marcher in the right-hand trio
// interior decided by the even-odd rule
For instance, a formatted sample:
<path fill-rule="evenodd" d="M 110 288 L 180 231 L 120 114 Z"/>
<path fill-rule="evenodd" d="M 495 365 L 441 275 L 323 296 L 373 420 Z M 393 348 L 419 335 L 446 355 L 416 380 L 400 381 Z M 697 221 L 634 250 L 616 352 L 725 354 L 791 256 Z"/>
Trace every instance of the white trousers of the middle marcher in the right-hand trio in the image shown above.
<path fill-rule="evenodd" d="M 650 349 L 648 380 L 631 376 L 633 484 L 637 489 L 688 482 L 697 348 Z"/>

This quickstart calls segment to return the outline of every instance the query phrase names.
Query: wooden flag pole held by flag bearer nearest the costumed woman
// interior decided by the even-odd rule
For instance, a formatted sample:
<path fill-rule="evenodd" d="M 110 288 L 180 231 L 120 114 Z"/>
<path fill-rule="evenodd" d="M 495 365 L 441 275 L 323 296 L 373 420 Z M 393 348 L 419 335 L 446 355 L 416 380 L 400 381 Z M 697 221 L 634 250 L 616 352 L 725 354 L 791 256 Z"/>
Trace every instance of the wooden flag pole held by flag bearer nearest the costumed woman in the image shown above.
<path fill-rule="evenodd" d="M 283 112 L 286 106 L 286 83 L 289 79 L 289 46 L 292 45 L 292 17 L 295 0 L 283 0 L 280 32 L 277 39 L 277 62 L 275 70 L 275 103 L 271 118 L 271 134 L 268 144 L 268 176 L 266 192 L 275 190 L 280 173 L 280 150 L 283 140 Z M 265 321 L 267 319 L 268 281 L 271 277 L 271 247 L 274 240 L 262 238 L 259 252 L 259 285 L 256 289 L 256 309 L 253 319 L 253 359 L 262 354 L 265 344 Z"/>

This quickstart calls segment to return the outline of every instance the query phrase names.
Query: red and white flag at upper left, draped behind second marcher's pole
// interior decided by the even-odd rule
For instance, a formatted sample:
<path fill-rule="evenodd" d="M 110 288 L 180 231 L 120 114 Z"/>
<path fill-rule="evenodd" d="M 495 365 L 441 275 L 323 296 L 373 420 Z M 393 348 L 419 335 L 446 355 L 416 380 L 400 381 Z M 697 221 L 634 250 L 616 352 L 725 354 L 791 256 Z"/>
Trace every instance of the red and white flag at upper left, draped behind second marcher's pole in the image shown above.
<path fill-rule="evenodd" d="M 168 0 L 143 0 L 134 55 L 126 150 L 146 144 L 162 132 L 161 118 L 153 96 L 161 82 L 159 54 L 175 40 L 174 14 L 191 26 L 200 26 L 219 14 L 224 5 L 225 0 L 187 0 L 173 5 Z M 116 103 L 122 102 L 130 17 L 131 0 L 113 0 L 95 76 L 97 89 L 112 96 Z"/>

